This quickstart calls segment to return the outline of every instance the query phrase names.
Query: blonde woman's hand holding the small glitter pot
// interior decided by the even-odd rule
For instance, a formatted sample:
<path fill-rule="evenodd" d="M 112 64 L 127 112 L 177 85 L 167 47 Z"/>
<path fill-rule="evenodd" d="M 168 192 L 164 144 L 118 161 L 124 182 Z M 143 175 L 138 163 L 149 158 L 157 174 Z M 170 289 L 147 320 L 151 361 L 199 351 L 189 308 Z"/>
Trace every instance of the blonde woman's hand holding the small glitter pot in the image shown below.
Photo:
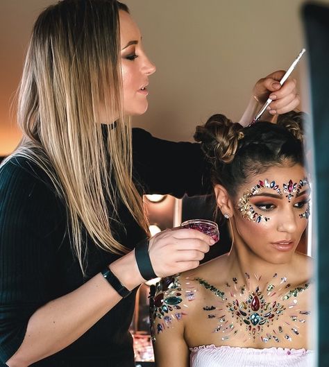
<path fill-rule="evenodd" d="M 149 255 L 155 274 L 165 277 L 199 266 L 214 240 L 189 228 L 173 228 L 155 234 L 149 241 Z"/>

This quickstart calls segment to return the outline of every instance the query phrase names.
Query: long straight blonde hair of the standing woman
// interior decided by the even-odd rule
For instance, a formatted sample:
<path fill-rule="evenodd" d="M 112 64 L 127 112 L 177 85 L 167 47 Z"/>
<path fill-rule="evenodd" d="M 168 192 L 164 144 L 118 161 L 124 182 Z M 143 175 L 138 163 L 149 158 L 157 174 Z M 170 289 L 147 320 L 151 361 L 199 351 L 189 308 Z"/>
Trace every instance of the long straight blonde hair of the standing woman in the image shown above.
<path fill-rule="evenodd" d="M 13 154 L 44 169 L 64 198 L 71 244 L 83 271 L 83 227 L 96 246 L 128 251 L 110 228 L 119 219 L 119 200 L 148 233 L 132 180 L 130 121 L 123 112 L 119 9 L 128 12 L 115 0 L 62 0 L 44 10 L 33 28 L 19 86 L 17 118 L 24 135 Z M 101 125 L 100 105 L 119 119 Z"/>

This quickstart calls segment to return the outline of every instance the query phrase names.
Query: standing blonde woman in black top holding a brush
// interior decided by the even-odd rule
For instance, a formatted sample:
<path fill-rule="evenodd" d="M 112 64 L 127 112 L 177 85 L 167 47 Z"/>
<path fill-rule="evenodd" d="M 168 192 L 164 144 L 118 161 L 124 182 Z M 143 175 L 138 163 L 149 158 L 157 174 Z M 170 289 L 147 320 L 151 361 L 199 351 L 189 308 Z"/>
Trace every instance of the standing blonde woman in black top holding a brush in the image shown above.
<path fill-rule="evenodd" d="M 195 268 L 212 244 L 194 230 L 145 241 L 144 192 L 208 189 L 197 144 L 130 128 L 154 71 L 122 3 L 63 0 L 38 17 L 19 87 L 22 142 L 0 168 L 1 366 L 134 366 L 137 287 Z M 281 76 L 255 85 L 260 101 L 276 90 L 278 113 L 299 102 Z"/>

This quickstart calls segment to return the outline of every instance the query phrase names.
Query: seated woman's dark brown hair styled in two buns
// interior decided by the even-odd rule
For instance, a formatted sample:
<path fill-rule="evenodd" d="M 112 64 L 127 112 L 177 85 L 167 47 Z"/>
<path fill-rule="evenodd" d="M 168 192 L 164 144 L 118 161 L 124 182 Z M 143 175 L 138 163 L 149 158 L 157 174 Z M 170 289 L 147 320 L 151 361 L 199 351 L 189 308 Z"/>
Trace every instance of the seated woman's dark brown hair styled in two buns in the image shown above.
<path fill-rule="evenodd" d="M 258 121 L 244 128 L 223 114 L 214 114 L 197 126 L 196 142 L 212 162 L 212 183 L 223 185 L 230 196 L 250 175 L 283 164 L 304 164 L 303 112 L 288 112 L 277 123 Z"/>

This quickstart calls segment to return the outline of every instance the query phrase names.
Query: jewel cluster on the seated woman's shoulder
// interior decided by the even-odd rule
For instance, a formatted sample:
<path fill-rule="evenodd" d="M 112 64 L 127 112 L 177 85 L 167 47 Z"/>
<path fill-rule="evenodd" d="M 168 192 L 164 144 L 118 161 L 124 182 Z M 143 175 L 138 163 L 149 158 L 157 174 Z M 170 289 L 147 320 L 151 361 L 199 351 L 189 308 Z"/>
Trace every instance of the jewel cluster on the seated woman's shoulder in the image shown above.
<path fill-rule="evenodd" d="M 150 318 L 152 340 L 155 341 L 155 333 L 163 332 L 166 327 L 169 327 L 173 318 L 180 320 L 185 312 L 182 311 L 180 303 L 183 301 L 182 289 L 178 282 L 178 275 L 175 277 L 162 278 L 153 289 L 153 294 L 150 296 Z M 191 293 L 191 292 L 189 292 Z M 187 299 L 193 299 L 194 293 L 186 294 Z M 156 323 L 155 319 L 159 318 L 162 323 Z"/>

